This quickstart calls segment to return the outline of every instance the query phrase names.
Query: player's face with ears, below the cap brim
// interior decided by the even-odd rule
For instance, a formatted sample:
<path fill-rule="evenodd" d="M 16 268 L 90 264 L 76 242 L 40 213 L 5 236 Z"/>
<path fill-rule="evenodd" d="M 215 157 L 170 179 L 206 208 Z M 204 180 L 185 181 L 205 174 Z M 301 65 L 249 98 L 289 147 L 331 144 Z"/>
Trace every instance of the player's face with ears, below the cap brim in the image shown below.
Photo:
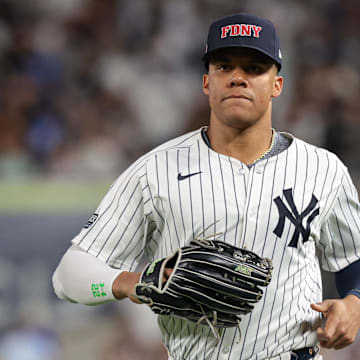
<path fill-rule="evenodd" d="M 266 55 L 248 48 L 223 49 L 210 58 L 203 76 L 211 120 L 246 128 L 271 119 L 271 99 L 280 95 L 283 78 Z"/>

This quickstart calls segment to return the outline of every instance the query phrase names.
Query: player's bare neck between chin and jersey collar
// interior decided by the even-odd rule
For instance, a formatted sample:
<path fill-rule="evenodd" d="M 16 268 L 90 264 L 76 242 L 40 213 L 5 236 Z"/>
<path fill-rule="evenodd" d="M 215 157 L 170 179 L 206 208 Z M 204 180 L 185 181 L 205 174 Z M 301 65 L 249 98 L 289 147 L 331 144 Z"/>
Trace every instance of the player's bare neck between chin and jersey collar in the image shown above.
<path fill-rule="evenodd" d="M 273 138 L 270 123 L 238 129 L 210 121 L 207 134 L 214 151 L 236 158 L 246 165 L 261 158 L 271 147 Z"/>

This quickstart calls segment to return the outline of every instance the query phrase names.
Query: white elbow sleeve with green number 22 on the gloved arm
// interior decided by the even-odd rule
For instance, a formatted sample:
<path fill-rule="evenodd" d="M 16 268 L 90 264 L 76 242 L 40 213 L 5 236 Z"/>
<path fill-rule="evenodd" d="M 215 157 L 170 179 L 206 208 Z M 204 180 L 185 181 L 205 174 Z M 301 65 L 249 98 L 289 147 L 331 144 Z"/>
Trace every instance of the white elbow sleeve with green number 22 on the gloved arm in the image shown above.
<path fill-rule="evenodd" d="M 72 245 L 61 259 L 52 280 L 60 299 L 97 305 L 116 300 L 112 284 L 122 272 Z"/>

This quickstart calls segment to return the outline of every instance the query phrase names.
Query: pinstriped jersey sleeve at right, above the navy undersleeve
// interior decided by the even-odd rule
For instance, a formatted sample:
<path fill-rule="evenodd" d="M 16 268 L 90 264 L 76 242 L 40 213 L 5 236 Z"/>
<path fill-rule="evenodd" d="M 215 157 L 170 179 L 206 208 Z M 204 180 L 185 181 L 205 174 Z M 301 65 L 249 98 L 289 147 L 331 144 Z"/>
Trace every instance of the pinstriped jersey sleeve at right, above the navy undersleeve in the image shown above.
<path fill-rule="evenodd" d="M 360 259 L 359 197 L 346 168 L 333 206 L 321 227 L 319 250 L 326 271 L 339 271 Z"/>

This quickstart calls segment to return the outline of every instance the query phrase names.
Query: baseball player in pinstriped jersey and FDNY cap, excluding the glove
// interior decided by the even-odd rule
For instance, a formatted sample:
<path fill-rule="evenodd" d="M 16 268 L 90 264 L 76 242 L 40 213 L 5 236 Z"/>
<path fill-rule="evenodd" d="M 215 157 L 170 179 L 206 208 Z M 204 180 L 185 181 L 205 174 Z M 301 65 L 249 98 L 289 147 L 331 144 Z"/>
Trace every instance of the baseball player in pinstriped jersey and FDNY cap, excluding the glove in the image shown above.
<path fill-rule="evenodd" d="M 343 348 L 360 326 L 357 192 L 334 154 L 272 128 L 284 80 L 270 21 L 215 21 L 203 61 L 209 126 L 145 154 L 113 183 L 61 259 L 55 292 L 82 304 L 138 302 L 143 256 L 154 261 L 198 234 L 221 234 L 270 258 L 272 281 L 218 342 L 206 325 L 160 315 L 169 359 L 321 359 L 319 344 Z M 320 264 L 335 272 L 340 299 L 322 300 Z"/>

